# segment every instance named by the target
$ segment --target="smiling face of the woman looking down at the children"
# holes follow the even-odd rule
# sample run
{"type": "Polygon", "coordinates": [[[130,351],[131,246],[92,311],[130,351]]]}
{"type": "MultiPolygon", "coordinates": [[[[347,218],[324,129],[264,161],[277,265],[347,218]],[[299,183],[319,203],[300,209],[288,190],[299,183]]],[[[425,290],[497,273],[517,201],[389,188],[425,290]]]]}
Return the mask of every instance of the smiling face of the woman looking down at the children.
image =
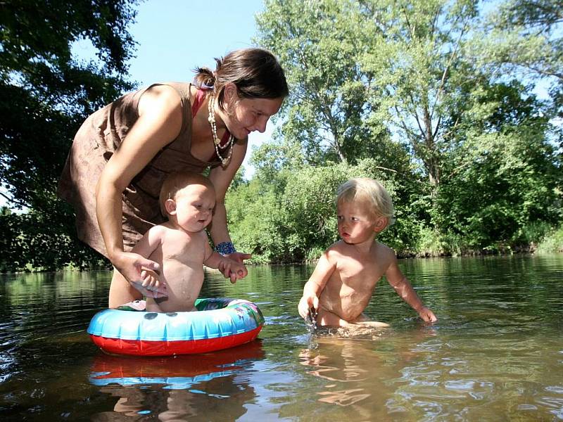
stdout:
{"type": "Polygon", "coordinates": [[[251,132],[264,132],[268,120],[284,101],[284,98],[236,98],[236,88],[231,98],[225,101],[224,123],[236,139],[246,139],[251,132]]]}

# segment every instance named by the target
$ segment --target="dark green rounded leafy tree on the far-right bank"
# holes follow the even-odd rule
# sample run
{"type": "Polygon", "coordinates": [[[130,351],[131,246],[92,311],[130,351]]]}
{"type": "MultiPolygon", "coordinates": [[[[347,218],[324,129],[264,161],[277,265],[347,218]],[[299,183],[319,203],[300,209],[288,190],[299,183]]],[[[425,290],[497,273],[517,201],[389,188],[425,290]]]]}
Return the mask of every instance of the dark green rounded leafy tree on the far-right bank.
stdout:
{"type": "Polygon", "coordinates": [[[548,121],[524,93],[519,84],[495,84],[466,105],[473,119],[449,154],[436,211],[443,231],[461,236],[469,250],[522,248],[538,240],[531,227],[562,217],[548,121]]]}

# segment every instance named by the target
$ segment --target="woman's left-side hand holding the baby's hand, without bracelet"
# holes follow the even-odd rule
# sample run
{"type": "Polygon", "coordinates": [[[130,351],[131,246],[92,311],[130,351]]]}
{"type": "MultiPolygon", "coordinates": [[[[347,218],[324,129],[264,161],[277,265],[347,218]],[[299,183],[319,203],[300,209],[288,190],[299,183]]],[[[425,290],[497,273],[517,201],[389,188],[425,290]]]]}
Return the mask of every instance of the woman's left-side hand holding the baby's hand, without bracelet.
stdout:
{"type": "Polygon", "coordinates": [[[166,284],[158,277],[160,265],[133,252],[120,252],[113,257],[116,269],[135,289],[147,298],[165,298],[168,295],[166,284]]]}

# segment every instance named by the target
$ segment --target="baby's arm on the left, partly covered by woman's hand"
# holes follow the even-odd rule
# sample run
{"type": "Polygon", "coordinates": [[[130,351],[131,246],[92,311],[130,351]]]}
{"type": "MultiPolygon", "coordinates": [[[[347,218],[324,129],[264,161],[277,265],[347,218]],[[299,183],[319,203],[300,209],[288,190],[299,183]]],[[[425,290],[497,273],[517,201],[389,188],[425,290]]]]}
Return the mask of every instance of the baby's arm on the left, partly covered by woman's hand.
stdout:
{"type": "MultiPolygon", "coordinates": [[[[141,240],[134,245],[132,252],[138,253],[148,259],[156,248],[161,245],[164,230],[162,226],[151,227],[141,240]]],[[[142,283],[134,282],[132,286],[143,293],[147,298],[158,299],[165,298],[168,295],[166,284],[160,283],[158,274],[152,269],[142,268],[141,279],[142,283]]]]}

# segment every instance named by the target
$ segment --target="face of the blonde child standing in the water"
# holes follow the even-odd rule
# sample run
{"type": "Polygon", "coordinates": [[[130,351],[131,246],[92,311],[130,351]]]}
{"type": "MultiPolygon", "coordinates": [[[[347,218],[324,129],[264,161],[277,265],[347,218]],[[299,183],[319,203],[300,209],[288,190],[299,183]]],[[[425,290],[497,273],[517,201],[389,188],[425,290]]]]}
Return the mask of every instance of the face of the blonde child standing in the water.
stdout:
{"type": "Polygon", "coordinates": [[[339,235],[350,244],[373,241],[381,231],[381,218],[375,217],[367,204],[361,202],[339,203],[336,207],[339,235]]]}

